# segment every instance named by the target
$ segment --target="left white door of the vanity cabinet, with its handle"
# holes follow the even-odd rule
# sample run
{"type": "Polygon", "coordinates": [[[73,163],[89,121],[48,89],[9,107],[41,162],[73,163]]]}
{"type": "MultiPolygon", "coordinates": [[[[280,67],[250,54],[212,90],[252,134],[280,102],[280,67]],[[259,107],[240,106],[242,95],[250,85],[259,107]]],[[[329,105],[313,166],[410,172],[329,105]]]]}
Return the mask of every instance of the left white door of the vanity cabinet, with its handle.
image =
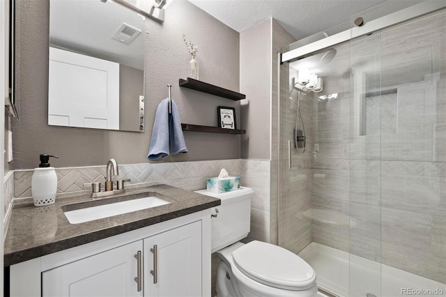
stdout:
{"type": "Polygon", "coordinates": [[[134,280],[142,248],[137,241],[45,271],[42,296],[143,296],[134,280]]]}

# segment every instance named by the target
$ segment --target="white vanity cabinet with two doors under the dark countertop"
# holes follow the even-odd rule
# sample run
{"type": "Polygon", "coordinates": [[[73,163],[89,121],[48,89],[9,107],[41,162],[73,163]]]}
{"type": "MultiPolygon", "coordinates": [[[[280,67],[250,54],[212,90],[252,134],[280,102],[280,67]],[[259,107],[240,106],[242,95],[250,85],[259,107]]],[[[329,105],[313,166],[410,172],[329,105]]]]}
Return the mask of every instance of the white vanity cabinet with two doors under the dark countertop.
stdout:
{"type": "Polygon", "coordinates": [[[210,210],[15,264],[10,288],[10,296],[210,296],[210,210]]]}

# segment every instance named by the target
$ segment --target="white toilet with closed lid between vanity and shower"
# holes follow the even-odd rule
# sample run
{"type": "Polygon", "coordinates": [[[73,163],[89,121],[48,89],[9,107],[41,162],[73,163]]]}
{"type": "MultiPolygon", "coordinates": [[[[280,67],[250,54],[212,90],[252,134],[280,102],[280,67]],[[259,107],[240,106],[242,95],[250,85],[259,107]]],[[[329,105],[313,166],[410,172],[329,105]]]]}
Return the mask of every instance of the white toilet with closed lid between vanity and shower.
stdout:
{"type": "Polygon", "coordinates": [[[222,200],[222,205],[213,208],[211,220],[212,252],[221,260],[217,297],[316,296],[316,273],[298,255],[261,241],[239,242],[249,233],[252,189],[196,192],[222,200]]]}

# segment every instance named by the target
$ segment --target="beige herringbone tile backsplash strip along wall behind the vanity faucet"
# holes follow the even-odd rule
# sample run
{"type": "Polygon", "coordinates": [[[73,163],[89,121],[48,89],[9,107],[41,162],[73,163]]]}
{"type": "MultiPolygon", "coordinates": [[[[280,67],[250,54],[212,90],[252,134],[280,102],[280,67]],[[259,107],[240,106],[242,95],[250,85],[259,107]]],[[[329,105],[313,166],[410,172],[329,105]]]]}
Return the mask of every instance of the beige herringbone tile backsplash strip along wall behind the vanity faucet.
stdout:
{"type": "MultiPolygon", "coordinates": [[[[229,174],[240,175],[240,159],[192,162],[150,163],[119,165],[119,176],[113,179],[130,178],[130,186],[164,183],[186,190],[206,188],[206,177],[218,176],[225,168],[229,174]]],[[[104,182],[105,166],[56,168],[57,193],[74,195],[89,192],[84,183],[104,182]]],[[[14,173],[14,197],[32,197],[31,178],[33,170],[18,170],[14,173]]],[[[242,180],[243,184],[243,180],[242,180]]]]}

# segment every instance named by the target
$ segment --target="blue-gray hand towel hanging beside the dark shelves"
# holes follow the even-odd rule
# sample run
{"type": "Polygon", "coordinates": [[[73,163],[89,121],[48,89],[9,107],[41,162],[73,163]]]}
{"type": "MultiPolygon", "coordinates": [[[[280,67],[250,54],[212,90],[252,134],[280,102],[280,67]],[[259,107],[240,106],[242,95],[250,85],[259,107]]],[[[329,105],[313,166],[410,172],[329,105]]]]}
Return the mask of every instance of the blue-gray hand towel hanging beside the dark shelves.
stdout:
{"type": "Polygon", "coordinates": [[[148,160],[167,157],[169,155],[169,139],[172,155],[187,153],[178,109],[176,109],[174,100],[171,100],[171,114],[169,114],[169,98],[167,98],[162,100],[156,109],[148,160]]]}

